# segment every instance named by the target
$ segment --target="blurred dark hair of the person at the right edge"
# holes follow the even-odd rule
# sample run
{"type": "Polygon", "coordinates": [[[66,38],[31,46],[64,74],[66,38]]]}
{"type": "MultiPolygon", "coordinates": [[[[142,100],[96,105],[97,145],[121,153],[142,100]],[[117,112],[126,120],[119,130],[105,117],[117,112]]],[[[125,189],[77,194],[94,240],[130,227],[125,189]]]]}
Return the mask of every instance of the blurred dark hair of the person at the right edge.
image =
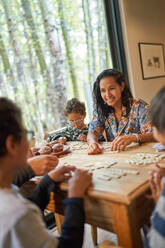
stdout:
{"type": "Polygon", "coordinates": [[[149,119],[160,133],[165,130],[165,87],[152,99],[149,109],[149,119]]]}

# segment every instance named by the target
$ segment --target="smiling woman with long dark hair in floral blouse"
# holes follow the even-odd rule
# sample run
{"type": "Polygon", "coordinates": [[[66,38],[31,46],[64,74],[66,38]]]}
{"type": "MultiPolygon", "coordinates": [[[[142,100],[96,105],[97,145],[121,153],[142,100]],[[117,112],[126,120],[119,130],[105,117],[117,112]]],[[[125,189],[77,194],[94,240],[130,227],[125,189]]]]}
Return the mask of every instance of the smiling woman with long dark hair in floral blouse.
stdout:
{"type": "Polygon", "coordinates": [[[132,142],[139,144],[153,140],[147,119],[148,104],[134,99],[123,73],[104,70],[93,87],[94,117],[89,126],[88,153],[101,153],[98,135],[113,141],[112,150],[124,150],[132,142]]]}

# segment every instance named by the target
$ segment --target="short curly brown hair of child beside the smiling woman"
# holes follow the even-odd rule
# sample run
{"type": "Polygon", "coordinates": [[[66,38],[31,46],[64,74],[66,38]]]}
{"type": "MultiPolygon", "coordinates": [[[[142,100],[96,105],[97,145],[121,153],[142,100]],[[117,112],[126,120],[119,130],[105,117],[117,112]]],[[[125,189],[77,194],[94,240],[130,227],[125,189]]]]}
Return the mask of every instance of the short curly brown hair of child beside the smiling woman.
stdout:
{"type": "Polygon", "coordinates": [[[72,98],[69,100],[66,104],[65,108],[65,115],[71,113],[79,113],[81,115],[85,115],[85,104],[83,102],[80,102],[77,98],[72,98]]]}

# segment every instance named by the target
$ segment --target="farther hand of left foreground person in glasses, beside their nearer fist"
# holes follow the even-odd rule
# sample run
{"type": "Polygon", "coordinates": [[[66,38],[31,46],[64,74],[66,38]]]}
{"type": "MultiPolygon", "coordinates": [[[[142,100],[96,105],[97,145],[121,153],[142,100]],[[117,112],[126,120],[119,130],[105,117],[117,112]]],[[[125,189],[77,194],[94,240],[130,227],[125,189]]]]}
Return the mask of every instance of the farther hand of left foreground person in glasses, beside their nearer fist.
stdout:
{"type": "Polygon", "coordinates": [[[62,166],[50,171],[48,175],[53,181],[58,183],[71,178],[71,172],[74,170],[74,166],[62,166]]]}

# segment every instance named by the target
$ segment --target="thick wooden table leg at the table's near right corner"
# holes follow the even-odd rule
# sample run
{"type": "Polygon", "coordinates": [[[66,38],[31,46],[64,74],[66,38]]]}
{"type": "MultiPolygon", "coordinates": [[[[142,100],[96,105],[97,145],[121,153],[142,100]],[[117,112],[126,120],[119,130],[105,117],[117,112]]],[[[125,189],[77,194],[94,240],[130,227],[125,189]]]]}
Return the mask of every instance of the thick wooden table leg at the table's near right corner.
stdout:
{"type": "Polygon", "coordinates": [[[113,205],[114,229],[118,243],[123,248],[141,248],[142,239],[136,223],[136,213],[131,208],[122,204],[113,205]]]}

